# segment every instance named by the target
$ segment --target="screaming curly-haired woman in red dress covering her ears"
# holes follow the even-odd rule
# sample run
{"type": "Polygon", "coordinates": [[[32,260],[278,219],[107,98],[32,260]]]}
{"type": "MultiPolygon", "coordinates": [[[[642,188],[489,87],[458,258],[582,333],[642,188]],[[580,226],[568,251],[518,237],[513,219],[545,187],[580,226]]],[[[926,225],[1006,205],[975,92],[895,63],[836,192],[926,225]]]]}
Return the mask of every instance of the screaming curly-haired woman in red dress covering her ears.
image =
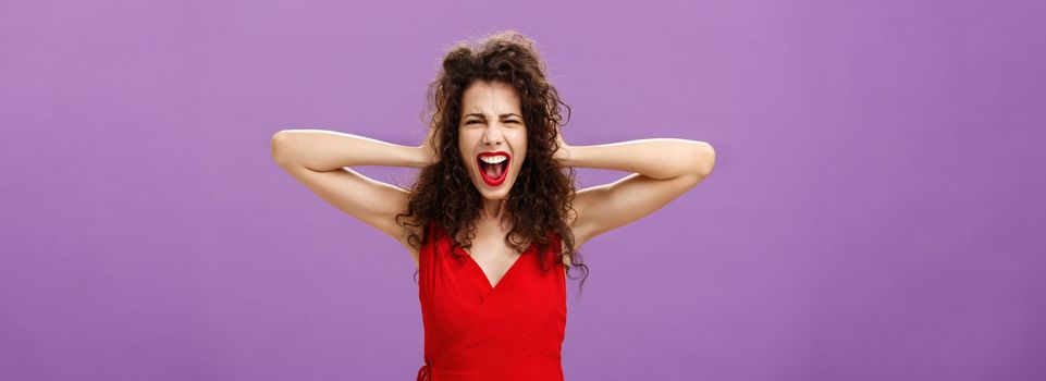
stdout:
{"type": "Polygon", "coordinates": [[[577,247],[694,187],[715,152],[675,138],[567,145],[566,103],[533,41],[513,30],[453,47],[428,100],[418,147],[286,130],[272,138],[273,158],[410,253],[424,325],[419,380],[563,380],[564,276],[588,273],[577,247]],[[354,165],[422,170],[408,190],[354,165]],[[575,192],[577,167],[633,173],[575,192]]]}

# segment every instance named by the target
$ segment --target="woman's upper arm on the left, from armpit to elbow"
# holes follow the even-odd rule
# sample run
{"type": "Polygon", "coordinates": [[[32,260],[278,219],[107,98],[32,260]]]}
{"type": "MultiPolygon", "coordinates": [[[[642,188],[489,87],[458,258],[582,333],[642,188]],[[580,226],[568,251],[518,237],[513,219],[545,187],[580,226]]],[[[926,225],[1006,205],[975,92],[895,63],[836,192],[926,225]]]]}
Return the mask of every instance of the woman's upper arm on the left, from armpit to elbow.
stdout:
{"type": "Polygon", "coordinates": [[[280,163],[280,167],[331,206],[399,242],[417,260],[416,249],[408,244],[406,232],[395,222],[396,214],[407,210],[408,190],[367,177],[349,168],[316,171],[295,163],[280,163]]]}

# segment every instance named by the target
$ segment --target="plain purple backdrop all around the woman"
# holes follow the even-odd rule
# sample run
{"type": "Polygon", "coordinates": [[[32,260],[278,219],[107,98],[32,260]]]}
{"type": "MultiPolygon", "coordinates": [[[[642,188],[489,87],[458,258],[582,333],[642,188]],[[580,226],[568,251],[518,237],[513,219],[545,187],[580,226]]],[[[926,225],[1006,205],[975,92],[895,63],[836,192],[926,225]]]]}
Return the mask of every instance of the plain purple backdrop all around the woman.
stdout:
{"type": "Polygon", "coordinates": [[[568,143],[717,150],[581,247],[568,380],[1046,379],[1042,1],[378,3],[3,2],[0,379],[413,379],[414,262],[269,138],[418,145],[503,28],[568,143]]]}

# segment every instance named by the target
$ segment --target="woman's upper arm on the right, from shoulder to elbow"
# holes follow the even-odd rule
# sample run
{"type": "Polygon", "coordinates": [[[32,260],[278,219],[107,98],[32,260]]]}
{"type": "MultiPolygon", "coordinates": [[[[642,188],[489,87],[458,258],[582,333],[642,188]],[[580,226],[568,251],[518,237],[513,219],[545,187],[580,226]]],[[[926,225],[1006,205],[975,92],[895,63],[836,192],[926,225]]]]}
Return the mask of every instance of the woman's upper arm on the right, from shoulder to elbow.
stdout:
{"type": "Polygon", "coordinates": [[[610,184],[579,190],[574,201],[576,246],[653,213],[697,186],[714,164],[714,151],[709,147],[698,161],[706,163],[705,168],[692,173],[665,180],[632,173],[610,184]]]}

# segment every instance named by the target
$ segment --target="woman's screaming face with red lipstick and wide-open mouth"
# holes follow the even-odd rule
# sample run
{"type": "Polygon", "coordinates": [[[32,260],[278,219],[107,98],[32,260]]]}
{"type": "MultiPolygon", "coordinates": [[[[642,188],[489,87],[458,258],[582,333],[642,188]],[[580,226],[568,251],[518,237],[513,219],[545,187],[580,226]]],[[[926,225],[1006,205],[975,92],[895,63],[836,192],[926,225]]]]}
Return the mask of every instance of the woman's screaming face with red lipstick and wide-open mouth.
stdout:
{"type": "Polygon", "coordinates": [[[465,89],[458,150],[484,198],[508,196],[527,157],[527,126],[512,86],[477,81],[465,89]]]}

